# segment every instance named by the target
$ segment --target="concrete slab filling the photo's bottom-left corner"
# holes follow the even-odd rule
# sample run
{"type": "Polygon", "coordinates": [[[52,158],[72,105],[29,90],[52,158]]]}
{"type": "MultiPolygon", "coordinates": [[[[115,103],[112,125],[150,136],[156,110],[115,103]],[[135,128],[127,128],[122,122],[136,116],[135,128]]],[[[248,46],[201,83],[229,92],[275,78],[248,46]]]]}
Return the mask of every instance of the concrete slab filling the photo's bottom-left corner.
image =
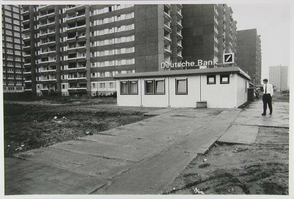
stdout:
{"type": "Polygon", "coordinates": [[[5,195],[90,194],[107,182],[100,178],[18,158],[5,158],[5,195]]]}

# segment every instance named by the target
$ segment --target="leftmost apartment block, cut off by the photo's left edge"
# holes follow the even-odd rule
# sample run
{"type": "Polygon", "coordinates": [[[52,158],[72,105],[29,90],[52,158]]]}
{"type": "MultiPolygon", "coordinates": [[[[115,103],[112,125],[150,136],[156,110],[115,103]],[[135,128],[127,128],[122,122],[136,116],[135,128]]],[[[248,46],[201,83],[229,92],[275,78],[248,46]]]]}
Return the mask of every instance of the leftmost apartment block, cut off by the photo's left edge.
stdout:
{"type": "Polygon", "coordinates": [[[2,5],[3,92],[24,91],[21,6],[2,5]]]}

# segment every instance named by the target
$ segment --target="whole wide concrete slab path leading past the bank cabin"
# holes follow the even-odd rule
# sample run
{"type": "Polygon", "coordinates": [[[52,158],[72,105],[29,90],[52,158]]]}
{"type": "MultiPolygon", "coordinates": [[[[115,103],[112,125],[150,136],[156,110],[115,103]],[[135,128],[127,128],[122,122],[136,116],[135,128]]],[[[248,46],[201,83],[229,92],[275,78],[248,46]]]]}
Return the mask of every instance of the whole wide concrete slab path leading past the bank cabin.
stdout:
{"type": "Polygon", "coordinates": [[[266,116],[258,101],[243,110],[166,108],[140,122],[16,154],[5,158],[5,194],[160,194],[219,138],[249,144],[258,125],[288,127],[289,103],[273,107],[266,116]]]}

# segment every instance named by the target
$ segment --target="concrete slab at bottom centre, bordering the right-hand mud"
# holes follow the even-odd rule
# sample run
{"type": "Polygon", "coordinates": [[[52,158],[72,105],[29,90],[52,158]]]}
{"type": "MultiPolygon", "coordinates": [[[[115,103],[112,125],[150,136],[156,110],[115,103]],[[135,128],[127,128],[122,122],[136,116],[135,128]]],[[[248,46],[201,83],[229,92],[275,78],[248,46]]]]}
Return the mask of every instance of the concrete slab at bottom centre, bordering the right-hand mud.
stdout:
{"type": "MultiPolygon", "coordinates": [[[[195,157],[195,153],[165,150],[114,178],[104,193],[160,194],[195,157]]],[[[101,190],[94,194],[97,192],[101,193],[101,190]]]]}

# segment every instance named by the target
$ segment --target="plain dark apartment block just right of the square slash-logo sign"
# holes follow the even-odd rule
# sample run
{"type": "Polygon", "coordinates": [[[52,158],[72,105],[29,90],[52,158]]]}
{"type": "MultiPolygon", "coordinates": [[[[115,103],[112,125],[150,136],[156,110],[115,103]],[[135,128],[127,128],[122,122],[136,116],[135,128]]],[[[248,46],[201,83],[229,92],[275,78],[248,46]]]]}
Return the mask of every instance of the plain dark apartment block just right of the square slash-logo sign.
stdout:
{"type": "Polygon", "coordinates": [[[237,31],[237,66],[251,78],[251,83],[261,83],[261,40],[257,30],[237,31]]]}

